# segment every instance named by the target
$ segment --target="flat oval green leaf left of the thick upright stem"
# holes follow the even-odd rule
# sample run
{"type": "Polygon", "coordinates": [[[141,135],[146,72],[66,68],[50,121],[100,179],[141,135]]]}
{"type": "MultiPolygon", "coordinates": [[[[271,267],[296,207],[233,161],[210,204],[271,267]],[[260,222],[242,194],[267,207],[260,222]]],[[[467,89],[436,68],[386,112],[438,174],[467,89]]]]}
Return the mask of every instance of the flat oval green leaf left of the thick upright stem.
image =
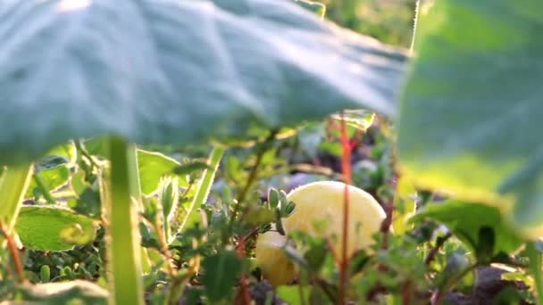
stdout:
{"type": "Polygon", "coordinates": [[[71,250],[96,235],[92,218],[60,207],[22,207],[15,230],[25,247],[41,251],[71,250]]]}

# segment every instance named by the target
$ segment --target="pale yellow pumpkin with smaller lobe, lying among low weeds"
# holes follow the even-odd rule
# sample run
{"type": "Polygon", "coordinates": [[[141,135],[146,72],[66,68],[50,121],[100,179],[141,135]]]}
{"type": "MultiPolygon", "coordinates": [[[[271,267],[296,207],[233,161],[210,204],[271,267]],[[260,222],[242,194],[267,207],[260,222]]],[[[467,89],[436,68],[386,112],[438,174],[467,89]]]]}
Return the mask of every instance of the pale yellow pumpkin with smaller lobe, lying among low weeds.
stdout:
{"type": "MultiPolygon", "coordinates": [[[[357,250],[369,250],[372,235],[380,230],[386,217],[371,194],[353,185],[348,185],[349,220],[347,255],[357,250]]],[[[338,255],[343,248],[343,206],[345,184],[337,181],[319,181],[302,185],[287,194],[288,201],[296,203],[296,210],[282,219],[285,233],[296,230],[316,237],[327,237],[338,255]]],[[[255,260],[263,277],[273,285],[288,284],[296,276],[296,268],[283,254],[281,248],[286,237],[270,231],[259,235],[256,241],[255,260]]]]}

